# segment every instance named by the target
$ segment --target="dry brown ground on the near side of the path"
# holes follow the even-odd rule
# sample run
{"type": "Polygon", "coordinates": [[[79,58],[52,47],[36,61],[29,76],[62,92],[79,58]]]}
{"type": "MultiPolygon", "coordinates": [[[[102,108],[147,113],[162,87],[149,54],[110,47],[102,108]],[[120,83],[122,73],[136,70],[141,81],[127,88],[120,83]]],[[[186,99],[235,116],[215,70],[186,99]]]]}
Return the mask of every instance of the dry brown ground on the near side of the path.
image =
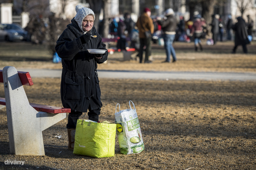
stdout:
{"type": "MultiPolygon", "coordinates": [[[[239,81],[100,79],[100,121],[114,122],[117,103],[136,106],[145,150],[91,158],[66,149],[67,119],[43,132],[46,156],[9,154],[7,120],[0,110],[0,166],[4,160],[24,160],[28,169],[255,169],[256,84],[239,81]],[[61,139],[54,138],[62,135],[61,139]],[[49,168],[50,167],[50,168],[49,168]]],[[[34,78],[24,86],[30,102],[61,106],[59,78],[34,78]]],[[[3,96],[0,88],[0,96],[3,96]]],[[[84,113],[81,119],[87,119],[84,113]]],[[[14,166],[14,168],[20,168],[14,166]]]]}

